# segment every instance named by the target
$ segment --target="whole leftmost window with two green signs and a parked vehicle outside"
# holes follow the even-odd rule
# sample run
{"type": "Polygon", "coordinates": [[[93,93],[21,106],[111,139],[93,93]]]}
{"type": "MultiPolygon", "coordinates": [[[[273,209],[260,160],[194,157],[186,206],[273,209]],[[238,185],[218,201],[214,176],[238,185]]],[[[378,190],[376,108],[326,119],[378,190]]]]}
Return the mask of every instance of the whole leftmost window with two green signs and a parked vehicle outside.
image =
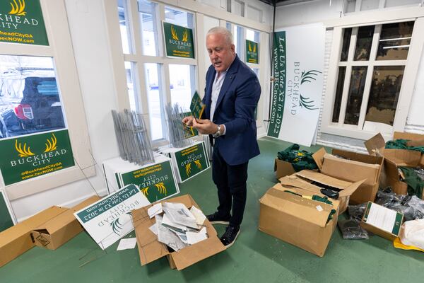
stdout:
{"type": "Polygon", "coordinates": [[[28,28],[35,42],[1,42],[0,54],[0,186],[11,200],[95,175],[64,2],[26,1],[21,8],[38,24],[33,30],[13,16],[13,28],[28,28]]]}

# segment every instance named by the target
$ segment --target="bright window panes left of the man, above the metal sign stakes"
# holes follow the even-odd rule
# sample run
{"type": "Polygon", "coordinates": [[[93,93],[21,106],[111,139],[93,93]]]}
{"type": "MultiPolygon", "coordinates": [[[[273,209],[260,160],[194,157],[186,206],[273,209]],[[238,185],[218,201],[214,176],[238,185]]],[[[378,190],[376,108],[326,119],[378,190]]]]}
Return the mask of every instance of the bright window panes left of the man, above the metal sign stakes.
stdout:
{"type": "Polygon", "coordinates": [[[196,59],[163,57],[162,22],[194,28],[194,13],[148,0],[117,0],[117,14],[129,106],[148,113],[144,117],[153,145],[160,145],[165,142],[167,130],[165,105],[178,103],[189,110],[197,84],[196,59]]]}

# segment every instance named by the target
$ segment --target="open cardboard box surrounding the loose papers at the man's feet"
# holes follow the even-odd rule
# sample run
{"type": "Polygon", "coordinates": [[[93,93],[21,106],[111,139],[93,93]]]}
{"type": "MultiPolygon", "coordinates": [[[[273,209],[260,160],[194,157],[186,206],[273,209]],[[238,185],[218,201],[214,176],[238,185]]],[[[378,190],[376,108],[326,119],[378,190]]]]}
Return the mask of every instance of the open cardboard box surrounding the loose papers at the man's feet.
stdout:
{"type": "MultiPolygon", "coordinates": [[[[179,202],[185,204],[187,208],[194,206],[200,209],[190,195],[172,197],[162,202],[179,202]]],[[[147,210],[151,206],[148,205],[132,212],[141,265],[146,265],[166,256],[172,269],[183,270],[190,265],[194,265],[196,262],[225,250],[225,246],[218,238],[216,230],[213,229],[212,224],[206,219],[204,223],[208,233],[206,240],[183,248],[178,252],[170,252],[167,246],[160,243],[158,237],[148,229],[155,224],[155,219],[150,219],[147,213],[147,210]]]]}

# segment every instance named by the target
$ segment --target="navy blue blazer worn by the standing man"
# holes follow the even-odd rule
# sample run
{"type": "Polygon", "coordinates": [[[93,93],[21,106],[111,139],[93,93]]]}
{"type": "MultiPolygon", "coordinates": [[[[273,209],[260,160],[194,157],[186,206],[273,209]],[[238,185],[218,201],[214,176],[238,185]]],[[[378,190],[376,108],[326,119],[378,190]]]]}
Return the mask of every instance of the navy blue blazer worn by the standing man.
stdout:
{"type": "Polygon", "coordinates": [[[211,65],[206,73],[206,88],[203,98],[206,108],[203,117],[216,125],[225,125],[225,135],[215,139],[215,146],[218,146],[226,163],[231,166],[242,164],[260,153],[254,110],[257,108],[261,96],[261,85],[254,71],[240,61],[236,55],[225,74],[211,119],[209,116],[215,76],[215,68],[211,65]]]}

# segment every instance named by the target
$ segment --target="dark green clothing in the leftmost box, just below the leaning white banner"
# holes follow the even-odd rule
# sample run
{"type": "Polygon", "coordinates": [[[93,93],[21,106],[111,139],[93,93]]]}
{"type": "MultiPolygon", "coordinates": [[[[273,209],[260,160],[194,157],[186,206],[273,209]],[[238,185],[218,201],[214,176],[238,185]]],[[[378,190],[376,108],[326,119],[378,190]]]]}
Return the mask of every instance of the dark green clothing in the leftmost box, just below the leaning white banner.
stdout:
{"type": "Polygon", "coordinates": [[[304,169],[317,169],[318,166],[314,158],[312,158],[312,153],[299,149],[299,144],[292,144],[287,149],[278,152],[278,159],[292,163],[293,169],[295,169],[296,172],[304,169]]]}

